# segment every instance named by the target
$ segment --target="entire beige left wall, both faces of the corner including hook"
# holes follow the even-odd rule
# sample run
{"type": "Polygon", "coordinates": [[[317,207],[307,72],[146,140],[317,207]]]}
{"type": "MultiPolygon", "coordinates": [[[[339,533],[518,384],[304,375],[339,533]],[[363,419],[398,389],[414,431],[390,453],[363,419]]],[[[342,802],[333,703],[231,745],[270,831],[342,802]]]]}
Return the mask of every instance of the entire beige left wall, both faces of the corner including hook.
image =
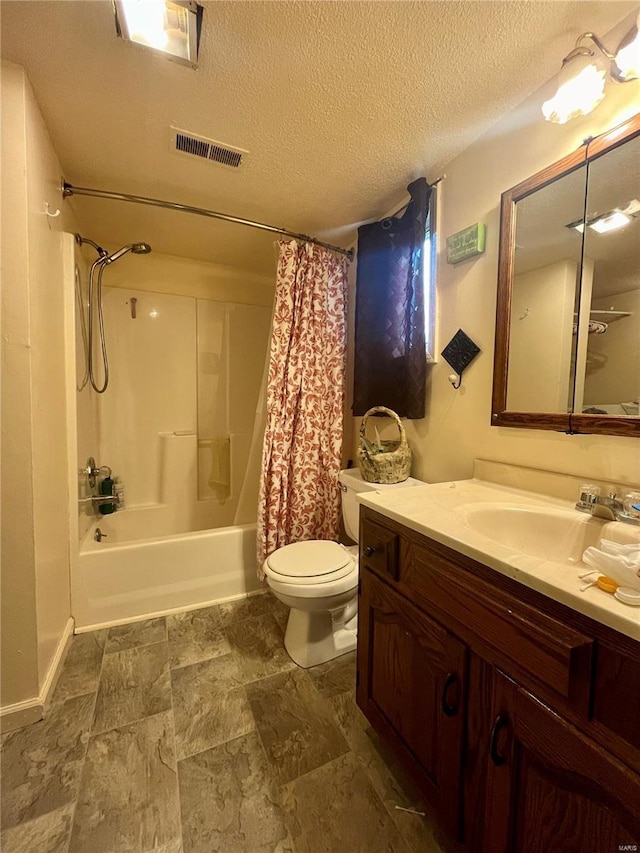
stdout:
{"type": "Polygon", "coordinates": [[[42,700],[70,628],[60,165],[2,66],[2,707],[42,700]]]}

